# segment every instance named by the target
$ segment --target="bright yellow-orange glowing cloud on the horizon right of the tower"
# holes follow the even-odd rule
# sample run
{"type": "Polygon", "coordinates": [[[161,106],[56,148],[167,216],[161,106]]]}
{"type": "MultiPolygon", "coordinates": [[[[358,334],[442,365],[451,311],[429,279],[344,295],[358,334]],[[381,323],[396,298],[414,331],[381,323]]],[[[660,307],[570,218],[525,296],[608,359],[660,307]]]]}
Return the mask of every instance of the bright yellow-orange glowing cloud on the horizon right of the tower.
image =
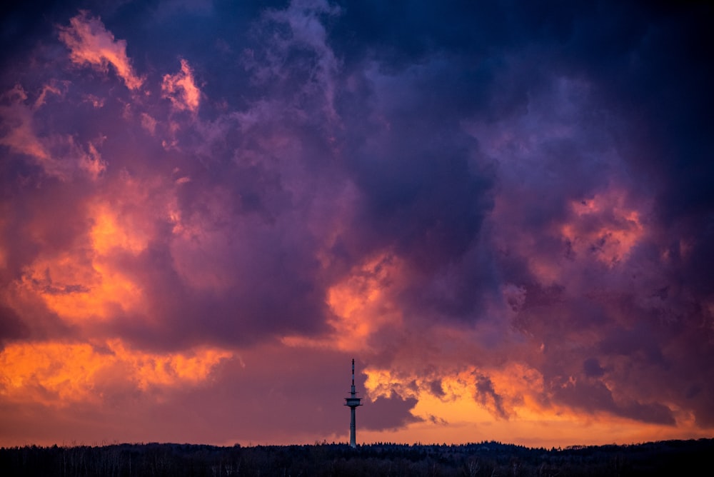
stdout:
{"type": "MultiPolygon", "coordinates": [[[[363,441],[478,442],[496,440],[529,446],[632,443],[653,439],[705,437],[688,413],[678,414],[678,425],[642,423],[608,413],[581,411],[545,404],[543,376],[524,363],[501,368],[475,368],[438,373],[405,373],[393,369],[366,368],[366,395],[375,400],[396,392],[416,398],[413,416],[421,418],[393,431],[360,431],[363,441]],[[478,396],[478,377],[487,376],[501,405],[478,396]],[[441,393],[434,392],[438,383],[441,393]]],[[[369,403],[366,403],[365,411],[369,403]]]]}

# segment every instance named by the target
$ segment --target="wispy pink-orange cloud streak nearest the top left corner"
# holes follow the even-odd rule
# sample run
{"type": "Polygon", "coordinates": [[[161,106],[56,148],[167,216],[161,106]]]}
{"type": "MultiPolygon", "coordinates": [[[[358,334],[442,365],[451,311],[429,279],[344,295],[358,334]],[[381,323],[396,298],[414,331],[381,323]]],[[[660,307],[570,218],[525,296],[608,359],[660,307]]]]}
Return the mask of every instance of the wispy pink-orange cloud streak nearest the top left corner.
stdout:
{"type": "Polygon", "coordinates": [[[126,41],[115,40],[99,18],[86,11],[70,19],[69,26],[59,27],[59,39],[70,49],[70,59],[76,64],[90,64],[106,72],[109,65],[129,89],[139,89],[143,80],[136,76],[126,56],[126,41]]]}

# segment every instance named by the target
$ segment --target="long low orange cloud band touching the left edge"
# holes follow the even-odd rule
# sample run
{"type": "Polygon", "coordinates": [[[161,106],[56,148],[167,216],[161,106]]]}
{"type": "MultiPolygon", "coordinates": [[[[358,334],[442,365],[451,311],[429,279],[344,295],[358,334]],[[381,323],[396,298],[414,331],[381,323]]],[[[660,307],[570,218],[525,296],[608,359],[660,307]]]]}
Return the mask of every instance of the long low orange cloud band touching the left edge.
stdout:
{"type": "Polygon", "coordinates": [[[112,388],[193,386],[205,381],[232,353],[196,348],[183,353],[145,353],[119,339],[88,343],[12,343],[0,352],[0,396],[6,401],[64,406],[100,402],[112,388]]]}

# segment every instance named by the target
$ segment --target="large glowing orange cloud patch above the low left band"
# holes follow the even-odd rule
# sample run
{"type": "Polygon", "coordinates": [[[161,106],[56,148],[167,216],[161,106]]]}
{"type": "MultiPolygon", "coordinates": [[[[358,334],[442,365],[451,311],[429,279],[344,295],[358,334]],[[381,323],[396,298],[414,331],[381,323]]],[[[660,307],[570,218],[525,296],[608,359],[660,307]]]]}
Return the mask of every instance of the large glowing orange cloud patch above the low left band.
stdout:
{"type": "MultiPolygon", "coordinates": [[[[121,181],[121,196],[95,199],[79,209],[86,224],[84,234],[62,251],[49,248],[24,267],[10,295],[14,308],[39,301],[68,323],[110,319],[117,313],[146,311],[144,284],[117,266],[121,256],[139,256],[156,234],[156,224],[171,221],[171,191],[161,194],[169,181],[121,181]],[[144,209],[139,204],[151,204],[144,209]],[[149,213],[147,213],[147,210],[149,213]]],[[[111,193],[110,193],[111,194],[111,193]]],[[[41,224],[29,229],[32,239],[46,242],[41,224]]]]}

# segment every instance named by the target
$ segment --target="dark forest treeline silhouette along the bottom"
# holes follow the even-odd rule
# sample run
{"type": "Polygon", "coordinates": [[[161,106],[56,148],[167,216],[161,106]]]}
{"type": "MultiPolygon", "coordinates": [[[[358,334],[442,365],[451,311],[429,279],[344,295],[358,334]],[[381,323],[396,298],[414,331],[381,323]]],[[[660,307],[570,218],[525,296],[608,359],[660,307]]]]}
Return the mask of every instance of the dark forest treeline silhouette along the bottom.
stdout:
{"type": "Polygon", "coordinates": [[[2,476],[653,476],[711,468],[714,439],[528,448],[342,443],[218,447],[135,443],[0,448],[2,476]]]}

